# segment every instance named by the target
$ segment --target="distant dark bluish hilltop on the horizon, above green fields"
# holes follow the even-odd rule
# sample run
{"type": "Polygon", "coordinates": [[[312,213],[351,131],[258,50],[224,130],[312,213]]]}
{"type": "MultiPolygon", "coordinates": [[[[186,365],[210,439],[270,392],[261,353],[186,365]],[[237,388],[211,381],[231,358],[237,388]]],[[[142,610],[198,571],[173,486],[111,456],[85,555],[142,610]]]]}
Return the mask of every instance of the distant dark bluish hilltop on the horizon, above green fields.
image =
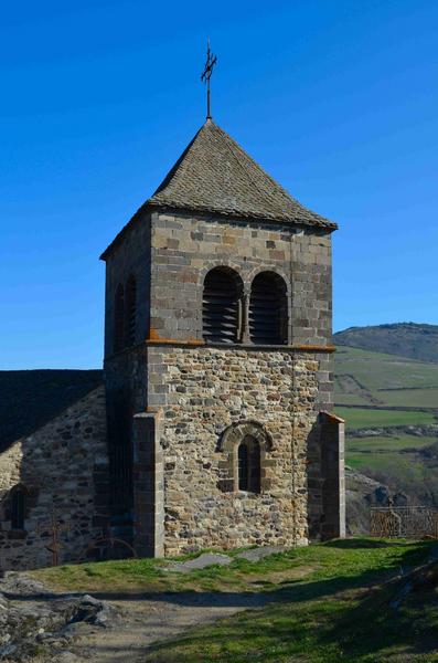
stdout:
{"type": "Polygon", "coordinates": [[[349,327],[333,335],[336,345],[438,364],[438,325],[396,323],[349,327]]]}

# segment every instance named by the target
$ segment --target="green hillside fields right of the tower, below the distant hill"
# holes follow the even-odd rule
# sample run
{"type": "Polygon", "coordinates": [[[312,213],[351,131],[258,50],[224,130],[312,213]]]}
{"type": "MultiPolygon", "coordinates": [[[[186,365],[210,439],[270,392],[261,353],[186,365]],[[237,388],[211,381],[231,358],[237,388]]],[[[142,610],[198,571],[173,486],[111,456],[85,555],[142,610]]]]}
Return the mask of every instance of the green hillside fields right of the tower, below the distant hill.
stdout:
{"type": "Polygon", "coordinates": [[[438,460],[420,453],[438,442],[427,428],[438,423],[438,365],[339,346],[334,385],[346,463],[394,491],[438,501],[438,460]]]}

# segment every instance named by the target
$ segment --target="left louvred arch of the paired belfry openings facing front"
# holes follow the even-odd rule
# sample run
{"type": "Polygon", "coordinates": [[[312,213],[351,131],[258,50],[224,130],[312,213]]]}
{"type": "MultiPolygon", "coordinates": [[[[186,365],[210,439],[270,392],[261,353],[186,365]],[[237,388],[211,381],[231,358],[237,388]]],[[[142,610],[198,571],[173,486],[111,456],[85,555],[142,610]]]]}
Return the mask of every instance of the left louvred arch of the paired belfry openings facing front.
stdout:
{"type": "Polygon", "coordinates": [[[242,340],[243,283],[229,267],[205,276],[202,301],[203,337],[209,343],[242,340]]]}

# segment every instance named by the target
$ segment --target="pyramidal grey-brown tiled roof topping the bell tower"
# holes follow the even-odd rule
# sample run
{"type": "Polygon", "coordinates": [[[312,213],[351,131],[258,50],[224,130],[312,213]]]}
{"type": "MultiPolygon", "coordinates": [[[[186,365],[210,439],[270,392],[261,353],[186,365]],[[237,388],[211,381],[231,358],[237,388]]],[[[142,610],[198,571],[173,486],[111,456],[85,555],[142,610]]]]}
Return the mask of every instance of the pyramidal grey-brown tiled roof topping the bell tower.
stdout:
{"type": "Polygon", "coordinates": [[[146,204],[336,228],[289,196],[212,120],[201,127],[146,204]]]}

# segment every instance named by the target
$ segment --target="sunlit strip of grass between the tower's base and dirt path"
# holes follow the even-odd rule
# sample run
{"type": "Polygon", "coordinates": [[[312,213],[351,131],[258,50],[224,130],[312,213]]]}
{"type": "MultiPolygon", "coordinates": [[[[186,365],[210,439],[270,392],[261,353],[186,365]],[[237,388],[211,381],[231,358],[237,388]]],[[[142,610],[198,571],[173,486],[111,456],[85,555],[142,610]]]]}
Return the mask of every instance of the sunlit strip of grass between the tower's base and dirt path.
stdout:
{"type": "MultiPolygon", "coordinates": [[[[423,554],[423,544],[378,544],[373,539],[351,539],[339,541],[336,546],[324,544],[299,547],[259,561],[236,559],[229,566],[209,566],[190,573],[168,572],[167,561],[162,559],[127,559],[66,565],[32,571],[32,576],[60,589],[77,591],[119,591],[181,592],[194,591],[256,591],[258,581],[267,590],[278,589],[276,578],[290,575],[291,582],[300,578],[299,570],[306,567],[306,573],[314,579],[339,575],[341,559],[342,572],[355,573],[374,568],[391,568],[406,551],[423,554]]],[[[282,578],[285,579],[286,576],[282,578]]],[[[285,583],[281,582],[284,586],[285,583]]]]}

